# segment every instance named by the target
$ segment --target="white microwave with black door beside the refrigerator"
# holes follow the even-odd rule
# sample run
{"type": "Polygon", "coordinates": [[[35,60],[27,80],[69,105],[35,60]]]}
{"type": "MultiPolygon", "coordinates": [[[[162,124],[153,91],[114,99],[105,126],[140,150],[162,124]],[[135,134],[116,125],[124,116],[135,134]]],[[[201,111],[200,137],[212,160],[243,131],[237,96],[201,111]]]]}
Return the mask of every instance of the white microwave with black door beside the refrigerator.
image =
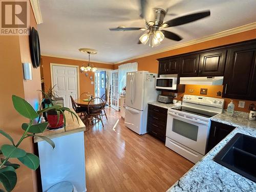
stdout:
{"type": "Polygon", "coordinates": [[[176,90],[177,77],[158,77],[156,79],[156,89],[176,90]]]}

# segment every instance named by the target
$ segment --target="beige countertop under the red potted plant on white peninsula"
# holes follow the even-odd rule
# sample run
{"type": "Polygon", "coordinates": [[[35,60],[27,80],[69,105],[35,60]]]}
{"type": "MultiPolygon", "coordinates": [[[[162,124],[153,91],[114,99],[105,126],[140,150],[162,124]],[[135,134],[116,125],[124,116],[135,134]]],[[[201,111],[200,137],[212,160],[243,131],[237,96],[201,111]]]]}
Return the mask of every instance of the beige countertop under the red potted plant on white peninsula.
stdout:
{"type": "MultiPolygon", "coordinates": [[[[71,108],[71,110],[75,113],[75,111],[72,108],[71,108]]],[[[57,131],[46,130],[46,131],[44,131],[40,134],[36,134],[36,135],[46,136],[46,137],[52,139],[52,138],[61,137],[64,135],[69,135],[69,134],[73,134],[73,133],[86,131],[86,125],[83,124],[82,120],[79,117],[78,117],[78,122],[75,117],[74,117],[74,121],[73,121],[72,116],[71,116],[71,114],[69,114],[69,112],[65,111],[64,113],[66,115],[66,131],[65,131],[65,129],[57,130],[57,131]]],[[[44,141],[44,140],[41,139],[40,137],[35,136],[34,143],[37,143],[39,141],[44,141]]]]}

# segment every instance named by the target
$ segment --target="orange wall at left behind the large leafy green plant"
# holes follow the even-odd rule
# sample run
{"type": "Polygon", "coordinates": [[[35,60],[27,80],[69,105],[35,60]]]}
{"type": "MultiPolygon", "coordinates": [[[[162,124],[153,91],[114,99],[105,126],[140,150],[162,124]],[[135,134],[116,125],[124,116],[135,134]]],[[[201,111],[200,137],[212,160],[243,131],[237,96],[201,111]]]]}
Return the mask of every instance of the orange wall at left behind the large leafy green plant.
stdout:
{"type": "MultiPolygon", "coordinates": [[[[32,8],[30,7],[30,24],[36,26],[32,8]]],[[[14,142],[22,136],[24,131],[20,128],[28,119],[20,116],[12,104],[12,94],[28,100],[35,108],[40,94],[36,92],[40,88],[40,70],[33,69],[33,80],[23,80],[22,62],[31,62],[28,36],[0,36],[0,127],[9,133],[14,142]],[[39,74],[39,76],[38,76],[39,74]]],[[[10,143],[5,137],[0,136],[0,145],[10,143]]],[[[27,138],[20,145],[27,152],[33,153],[31,138],[27,138]]],[[[11,162],[19,163],[15,159],[11,162]]],[[[21,164],[17,169],[17,184],[13,191],[37,191],[35,172],[21,164]]],[[[0,184],[0,188],[3,188],[0,184]]]]}

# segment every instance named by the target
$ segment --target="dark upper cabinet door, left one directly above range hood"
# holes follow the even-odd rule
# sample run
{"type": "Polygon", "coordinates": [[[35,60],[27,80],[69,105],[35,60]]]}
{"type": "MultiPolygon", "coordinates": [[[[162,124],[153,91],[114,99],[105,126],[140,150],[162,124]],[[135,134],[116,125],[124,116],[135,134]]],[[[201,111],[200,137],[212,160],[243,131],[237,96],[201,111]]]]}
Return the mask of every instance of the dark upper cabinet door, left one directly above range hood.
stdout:
{"type": "Polygon", "coordinates": [[[199,55],[188,55],[180,57],[180,76],[193,77],[198,74],[199,55]]]}

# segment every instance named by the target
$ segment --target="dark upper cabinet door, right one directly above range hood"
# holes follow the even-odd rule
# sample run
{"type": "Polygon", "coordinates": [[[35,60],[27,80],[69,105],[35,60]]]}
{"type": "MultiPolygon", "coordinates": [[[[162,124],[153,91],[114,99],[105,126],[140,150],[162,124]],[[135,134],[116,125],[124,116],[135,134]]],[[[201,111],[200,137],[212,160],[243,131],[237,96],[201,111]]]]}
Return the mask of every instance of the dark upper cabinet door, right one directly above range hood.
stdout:
{"type": "Polygon", "coordinates": [[[226,50],[200,54],[199,76],[223,76],[226,50]]]}

